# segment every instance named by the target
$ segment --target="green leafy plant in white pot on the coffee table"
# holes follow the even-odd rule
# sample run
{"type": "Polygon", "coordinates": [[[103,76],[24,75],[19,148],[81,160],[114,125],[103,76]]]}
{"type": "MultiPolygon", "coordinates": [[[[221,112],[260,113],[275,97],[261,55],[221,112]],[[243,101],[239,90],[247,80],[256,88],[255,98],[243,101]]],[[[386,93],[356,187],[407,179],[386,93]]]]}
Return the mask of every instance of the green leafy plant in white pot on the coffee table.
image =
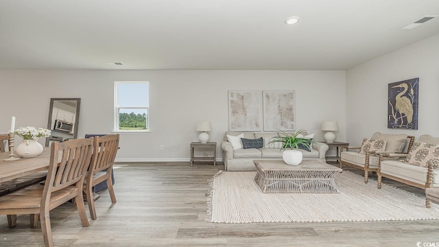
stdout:
{"type": "Polygon", "coordinates": [[[298,130],[293,135],[281,130],[278,137],[273,137],[270,143],[282,143],[281,150],[283,150],[282,158],[288,165],[298,165],[302,162],[302,152],[294,149],[307,148],[311,150],[313,139],[303,138],[301,134],[305,130],[298,130]]]}

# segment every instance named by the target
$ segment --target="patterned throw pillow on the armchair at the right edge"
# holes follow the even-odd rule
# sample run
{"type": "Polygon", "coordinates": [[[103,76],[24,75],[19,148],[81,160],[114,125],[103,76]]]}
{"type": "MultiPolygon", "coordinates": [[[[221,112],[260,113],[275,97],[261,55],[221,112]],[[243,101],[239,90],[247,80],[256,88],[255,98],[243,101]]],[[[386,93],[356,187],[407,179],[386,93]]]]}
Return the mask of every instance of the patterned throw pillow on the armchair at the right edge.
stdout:
{"type": "Polygon", "coordinates": [[[428,167],[431,164],[439,168],[439,145],[414,141],[412,150],[403,162],[420,167],[428,167]]]}

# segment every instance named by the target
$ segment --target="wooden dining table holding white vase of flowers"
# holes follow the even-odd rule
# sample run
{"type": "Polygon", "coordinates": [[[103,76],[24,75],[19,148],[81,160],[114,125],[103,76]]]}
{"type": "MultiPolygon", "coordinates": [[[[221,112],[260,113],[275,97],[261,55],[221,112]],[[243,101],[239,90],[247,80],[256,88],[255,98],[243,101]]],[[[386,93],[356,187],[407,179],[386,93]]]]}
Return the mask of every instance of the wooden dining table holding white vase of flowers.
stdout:
{"type": "MultiPolygon", "coordinates": [[[[21,178],[49,169],[50,148],[43,148],[43,152],[33,158],[20,158],[16,161],[3,161],[10,152],[0,152],[0,185],[8,180],[21,178]]],[[[19,155],[16,155],[19,157],[19,155]]]]}

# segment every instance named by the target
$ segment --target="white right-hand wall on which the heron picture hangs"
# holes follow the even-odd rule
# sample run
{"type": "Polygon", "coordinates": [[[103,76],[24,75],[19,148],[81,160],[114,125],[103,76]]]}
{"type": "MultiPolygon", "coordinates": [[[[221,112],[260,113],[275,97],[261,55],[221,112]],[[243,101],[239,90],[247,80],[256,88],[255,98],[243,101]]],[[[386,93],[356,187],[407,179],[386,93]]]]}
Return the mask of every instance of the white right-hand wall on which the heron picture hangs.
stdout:
{"type": "Polygon", "coordinates": [[[374,132],[439,137],[439,34],[346,71],[347,141],[374,132]],[[388,84],[419,78],[418,130],[387,128],[388,84]]]}

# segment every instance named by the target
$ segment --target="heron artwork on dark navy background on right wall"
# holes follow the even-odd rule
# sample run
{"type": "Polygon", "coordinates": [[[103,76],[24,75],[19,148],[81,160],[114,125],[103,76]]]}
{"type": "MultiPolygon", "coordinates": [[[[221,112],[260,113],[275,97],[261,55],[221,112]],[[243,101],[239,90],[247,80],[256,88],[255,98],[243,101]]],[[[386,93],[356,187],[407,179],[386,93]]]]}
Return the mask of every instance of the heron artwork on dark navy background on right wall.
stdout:
{"type": "Polygon", "coordinates": [[[419,78],[389,84],[388,128],[418,129],[419,78]]]}

